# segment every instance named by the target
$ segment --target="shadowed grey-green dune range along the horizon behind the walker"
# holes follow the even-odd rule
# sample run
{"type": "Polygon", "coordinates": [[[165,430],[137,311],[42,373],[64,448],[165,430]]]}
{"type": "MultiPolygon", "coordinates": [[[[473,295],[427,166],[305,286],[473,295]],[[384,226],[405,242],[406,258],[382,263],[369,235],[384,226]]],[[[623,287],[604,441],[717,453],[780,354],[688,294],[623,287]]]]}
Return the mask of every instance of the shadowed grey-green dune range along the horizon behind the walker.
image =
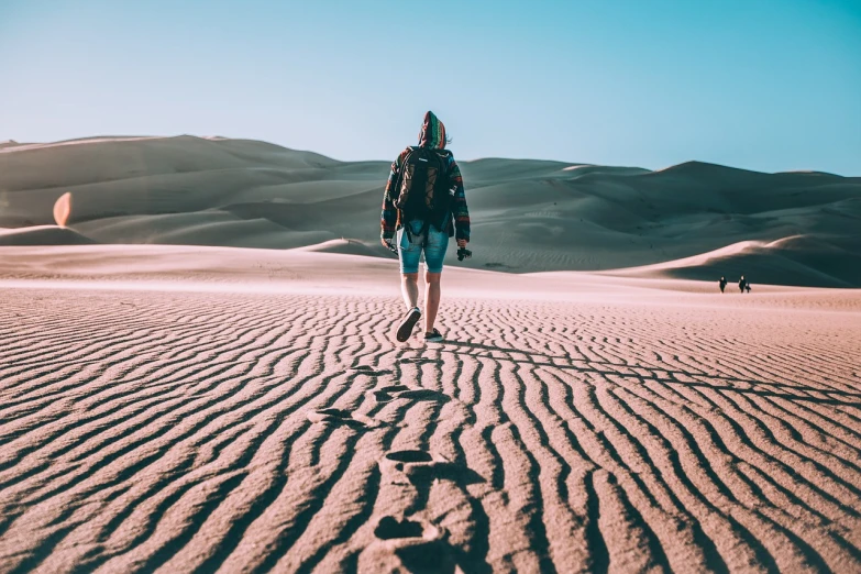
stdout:
{"type": "MultiPolygon", "coordinates": [[[[861,286],[851,271],[861,252],[858,177],[699,162],[656,172],[532,159],[461,164],[475,239],[464,265],[473,268],[642,267],[802,235],[814,241],[663,269],[696,279],[744,273],[754,283],[861,286]]],[[[69,192],[68,224],[101,243],[291,249],[344,238],[384,257],[377,222],[388,167],[188,135],[11,145],[0,148],[0,225],[51,224],[54,202],[69,192]]]]}

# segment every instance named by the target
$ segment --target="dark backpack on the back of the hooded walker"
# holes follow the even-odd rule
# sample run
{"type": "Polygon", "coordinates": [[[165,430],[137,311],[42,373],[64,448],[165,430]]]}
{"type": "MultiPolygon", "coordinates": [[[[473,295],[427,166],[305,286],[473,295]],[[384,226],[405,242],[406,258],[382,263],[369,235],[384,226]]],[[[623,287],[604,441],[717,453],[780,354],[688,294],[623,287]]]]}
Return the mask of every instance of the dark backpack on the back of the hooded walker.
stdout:
{"type": "Polygon", "coordinates": [[[438,150],[409,147],[398,179],[398,196],[393,198],[398,224],[408,227],[408,222],[421,220],[422,234],[430,223],[440,225],[450,209],[448,188],[445,156],[438,150]]]}

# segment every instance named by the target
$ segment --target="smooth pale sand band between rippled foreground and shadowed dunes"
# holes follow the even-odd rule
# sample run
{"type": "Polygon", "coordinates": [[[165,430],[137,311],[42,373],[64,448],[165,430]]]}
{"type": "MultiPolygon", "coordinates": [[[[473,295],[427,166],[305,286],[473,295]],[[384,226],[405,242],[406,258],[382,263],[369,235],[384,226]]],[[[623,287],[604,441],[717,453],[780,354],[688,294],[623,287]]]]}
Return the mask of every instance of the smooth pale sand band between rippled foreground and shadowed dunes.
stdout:
{"type": "MultiPolygon", "coordinates": [[[[25,285],[56,287],[62,282],[64,287],[75,289],[167,288],[271,294],[311,290],[373,296],[379,295],[380,289],[391,290],[393,282],[397,287],[397,260],[363,256],[362,251],[361,245],[342,240],[286,251],[189,245],[0,246],[0,285],[18,287],[20,282],[25,282],[25,285]]],[[[576,296],[596,301],[628,301],[648,295],[667,301],[687,298],[691,305],[722,306],[733,301],[702,297],[717,294],[714,282],[643,278],[636,274],[633,277],[588,272],[508,274],[450,266],[445,269],[444,285],[448,297],[467,299],[540,297],[567,301],[576,296]]],[[[795,308],[813,294],[810,301],[816,301],[816,309],[857,310],[851,289],[823,291],[760,284],[746,305],[795,308]]]]}

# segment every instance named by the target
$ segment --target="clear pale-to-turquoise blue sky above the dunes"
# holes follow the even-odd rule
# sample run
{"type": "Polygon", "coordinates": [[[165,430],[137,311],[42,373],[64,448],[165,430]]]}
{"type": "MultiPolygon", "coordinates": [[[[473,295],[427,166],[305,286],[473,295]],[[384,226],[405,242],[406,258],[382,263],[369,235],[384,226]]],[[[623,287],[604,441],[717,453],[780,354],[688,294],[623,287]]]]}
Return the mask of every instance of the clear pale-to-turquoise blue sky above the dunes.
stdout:
{"type": "Polygon", "coordinates": [[[861,175],[861,0],[0,0],[0,140],[861,175]]]}

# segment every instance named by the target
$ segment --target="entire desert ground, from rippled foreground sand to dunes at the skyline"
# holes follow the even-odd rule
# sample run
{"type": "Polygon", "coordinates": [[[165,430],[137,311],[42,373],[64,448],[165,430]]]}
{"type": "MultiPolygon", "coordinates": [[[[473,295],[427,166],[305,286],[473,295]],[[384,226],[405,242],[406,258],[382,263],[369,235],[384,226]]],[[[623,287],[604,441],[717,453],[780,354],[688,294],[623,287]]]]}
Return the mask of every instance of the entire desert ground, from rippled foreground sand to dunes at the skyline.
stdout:
{"type": "Polygon", "coordinates": [[[0,143],[0,572],[861,572],[861,178],[461,162],[400,344],[388,165],[0,143]]]}

